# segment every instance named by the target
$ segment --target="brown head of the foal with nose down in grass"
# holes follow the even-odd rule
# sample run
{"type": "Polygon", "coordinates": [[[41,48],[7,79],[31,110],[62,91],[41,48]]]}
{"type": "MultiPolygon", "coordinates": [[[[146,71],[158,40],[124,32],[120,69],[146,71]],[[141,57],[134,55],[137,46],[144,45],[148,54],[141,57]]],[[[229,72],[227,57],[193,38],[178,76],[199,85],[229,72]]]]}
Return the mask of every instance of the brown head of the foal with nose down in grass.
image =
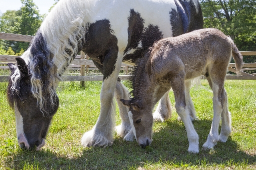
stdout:
{"type": "Polygon", "coordinates": [[[142,148],[150,145],[153,125],[151,108],[143,106],[139,99],[121,99],[120,101],[129,108],[128,116],[138,145],[142,148]]]}

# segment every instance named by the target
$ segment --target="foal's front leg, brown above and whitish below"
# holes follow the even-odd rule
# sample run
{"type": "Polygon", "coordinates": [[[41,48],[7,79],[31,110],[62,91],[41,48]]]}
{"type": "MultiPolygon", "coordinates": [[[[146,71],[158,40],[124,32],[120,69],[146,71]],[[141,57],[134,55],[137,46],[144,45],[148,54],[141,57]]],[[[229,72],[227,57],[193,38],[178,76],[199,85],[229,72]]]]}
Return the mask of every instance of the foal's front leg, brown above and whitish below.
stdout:
{"type": "Polygon", "coordinates": [[[198,135],[194,130],[192,121],[190,120],[189,116],[189,109],[186,107],[185,102],[185,87],[184,87],[184,76],[180,74],[172,78],[171,80],[171,87],[175,97],[175,108],[178,116],[180,116],[182,122],[184,123],[187,139],[189,143],[188,152],[190,153],[199,153],[199,142],[198,142],[198,135]]]}

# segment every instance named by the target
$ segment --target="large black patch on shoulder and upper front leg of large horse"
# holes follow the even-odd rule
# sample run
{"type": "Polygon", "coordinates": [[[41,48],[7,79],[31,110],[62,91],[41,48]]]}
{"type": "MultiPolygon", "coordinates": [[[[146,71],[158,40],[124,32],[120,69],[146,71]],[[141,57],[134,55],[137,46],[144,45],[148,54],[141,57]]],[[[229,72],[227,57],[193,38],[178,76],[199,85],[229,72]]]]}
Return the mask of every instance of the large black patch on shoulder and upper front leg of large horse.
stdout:
{"type": "Polygon", "coordinates": [[[115,69],[118,46],[113,35],[110,22],[107,19],[97,20],[89,25],[85,32],[81,49],[103,74],[103,80],[108,78],[115,69]]]}

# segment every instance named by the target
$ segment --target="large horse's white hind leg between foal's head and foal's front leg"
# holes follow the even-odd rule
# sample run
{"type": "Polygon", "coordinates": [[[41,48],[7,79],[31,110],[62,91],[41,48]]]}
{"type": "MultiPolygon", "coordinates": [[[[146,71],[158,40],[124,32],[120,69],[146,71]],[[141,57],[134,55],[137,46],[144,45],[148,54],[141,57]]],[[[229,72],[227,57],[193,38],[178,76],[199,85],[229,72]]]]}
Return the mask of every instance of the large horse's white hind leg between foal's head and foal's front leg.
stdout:
{"type": "Polygon", "coordinates": [[[153,120],[163,122],[171,117],[171,103],[169,99],[169,90],[161,97],[153,113],[153,120]]]}

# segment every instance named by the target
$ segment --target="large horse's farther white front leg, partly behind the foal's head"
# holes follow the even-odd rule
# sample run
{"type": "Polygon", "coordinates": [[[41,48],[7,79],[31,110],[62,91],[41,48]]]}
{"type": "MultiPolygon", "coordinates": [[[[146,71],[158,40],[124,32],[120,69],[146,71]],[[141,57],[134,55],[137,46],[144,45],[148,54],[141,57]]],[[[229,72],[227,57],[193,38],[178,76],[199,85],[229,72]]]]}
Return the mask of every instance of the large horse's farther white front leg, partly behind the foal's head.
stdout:
{"type": "MultiPolygon", "coordinates": [[[[130,121],[128,117],[128,108],[125,107],[120,99],[129,99],[128,90],[127,88],[120,82],[117,81],[115,85],[114,97],[116,99],[117,105],[119,107],[119,115],[121,118],[121,124],[115,127],[117,135],[120,137],[124,137],[128,132],[131,130],[130,121]]],[[[125,140],[133,141],[135,139],[133,133],[130,134],[131,137],[128,137],[125,140]]]]}

